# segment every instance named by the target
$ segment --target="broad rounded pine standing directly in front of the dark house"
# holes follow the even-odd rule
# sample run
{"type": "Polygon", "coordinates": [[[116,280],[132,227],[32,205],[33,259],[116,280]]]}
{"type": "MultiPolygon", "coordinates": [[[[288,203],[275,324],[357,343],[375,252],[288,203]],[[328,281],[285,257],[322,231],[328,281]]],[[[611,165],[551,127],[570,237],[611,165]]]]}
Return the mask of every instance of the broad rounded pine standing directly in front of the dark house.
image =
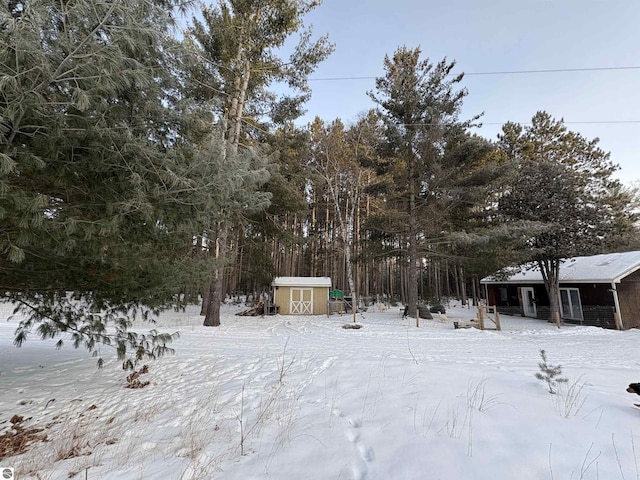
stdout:
{"type": "Polygon", "coordinates": [[[531,225],[517,254],[540,270],[551,320],[559,321],[560,265],[571,257],[624,248],[636,218],[627,208],[631,196],[612,177],[618,166],[598,147],[598,139],[568,131],[546,112],[538,112],[524,128],[506,124],[499,145],[515,170],[497,213],[505,223],[531,225]]]}

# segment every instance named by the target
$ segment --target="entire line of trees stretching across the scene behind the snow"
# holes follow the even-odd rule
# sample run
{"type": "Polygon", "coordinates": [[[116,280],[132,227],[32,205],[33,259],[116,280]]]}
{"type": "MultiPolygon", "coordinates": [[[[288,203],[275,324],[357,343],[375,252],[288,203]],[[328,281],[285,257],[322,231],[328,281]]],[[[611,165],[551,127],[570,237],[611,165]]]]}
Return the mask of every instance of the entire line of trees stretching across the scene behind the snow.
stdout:
{"type": "Polygon", "coordinates": [[[543,111],[472,135],[463,75],[420,48],[381,59],[360,118],[296,125],[333,50],[304,24],[320,3],[2,2],[0,286],[17,345],[64,333],[135,360],[172,340],[131,332],[136,315],[202,301],[219,325],[227,295],[275,276],[329,276],[415,315],[509,264],[536,262],[552,291],[561,259],[637,246],[635,192],[597,139],[543,111]]]}

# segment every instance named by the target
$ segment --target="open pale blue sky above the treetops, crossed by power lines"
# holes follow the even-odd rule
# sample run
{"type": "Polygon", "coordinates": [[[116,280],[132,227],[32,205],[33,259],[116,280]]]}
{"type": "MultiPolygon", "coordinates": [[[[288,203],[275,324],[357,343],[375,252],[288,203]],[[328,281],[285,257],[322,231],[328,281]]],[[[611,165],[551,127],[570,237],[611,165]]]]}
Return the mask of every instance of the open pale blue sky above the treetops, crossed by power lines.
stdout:
{"type": "Polygon", "coordinates": [[[455,60],[466,74],[462,118],[484,112],[475,133],[495,139],[504,123],[526,124],[544,110],[599,138],[621,167],[616,178],[640,180],[638,1],[324,0],[305,23],[316,37],[328,34],[335,51],[310,76],[301,124],[355,121],[374,106],[366,92],[383,75],[384,56],[420,47],[423,58],[455,60]]]}

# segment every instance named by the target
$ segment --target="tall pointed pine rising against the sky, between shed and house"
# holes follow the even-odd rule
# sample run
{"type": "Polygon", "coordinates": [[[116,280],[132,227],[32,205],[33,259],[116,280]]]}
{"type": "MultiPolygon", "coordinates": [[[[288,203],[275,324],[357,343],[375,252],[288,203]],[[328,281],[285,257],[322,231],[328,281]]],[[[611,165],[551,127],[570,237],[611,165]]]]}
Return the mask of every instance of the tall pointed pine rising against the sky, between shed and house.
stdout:
{"type": "Polygon", "coordinates": [[[409,316],[416,316],[418,269],[425,231],[438,220],[431,213],[438,195],[433,175],[440,168],[443,148],[450,134],[464,130],[459,120],[465,89],[458,89],[462,75],[451,76],[455,62],[437,64],[420,60],[420,49],[399,48],[384,59],[385,76],[376,79],[376,92],[369,95],[380,106],[386,127],[377,173],[382,181],[385,219],[378,225],[400,233],[397,246],[408,265],[407,303],[409,316]],[[386,225],[386,226],[385,226],[386,225]]]}

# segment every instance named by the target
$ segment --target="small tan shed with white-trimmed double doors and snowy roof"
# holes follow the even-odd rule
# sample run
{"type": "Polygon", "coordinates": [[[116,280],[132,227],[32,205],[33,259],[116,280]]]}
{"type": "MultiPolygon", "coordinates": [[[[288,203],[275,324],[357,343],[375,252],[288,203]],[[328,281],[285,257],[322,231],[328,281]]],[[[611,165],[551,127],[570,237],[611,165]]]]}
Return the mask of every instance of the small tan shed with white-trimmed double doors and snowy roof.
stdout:
{"type": "Polygon", "coordinates": [[[273,303],[283,315],[326,315],[329,277],[277,277],[271,282],[273,303]]]}

